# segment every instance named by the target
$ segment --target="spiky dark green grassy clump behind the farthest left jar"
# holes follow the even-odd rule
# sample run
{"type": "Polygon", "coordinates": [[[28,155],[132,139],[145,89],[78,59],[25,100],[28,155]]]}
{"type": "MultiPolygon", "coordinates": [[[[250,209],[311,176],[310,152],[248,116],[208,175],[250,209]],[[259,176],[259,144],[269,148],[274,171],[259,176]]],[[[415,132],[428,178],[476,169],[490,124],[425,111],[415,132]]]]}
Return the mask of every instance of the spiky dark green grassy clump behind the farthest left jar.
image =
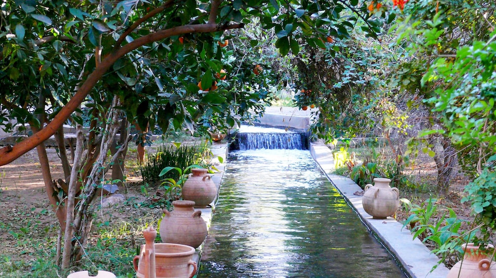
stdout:
{"type": "Polygon", "coordinates": [[[205,145],[162,145],[155,154],[149,155],[145,163],[139,165],[143,182],[158,184],[163,179],[179,179],[179,173],[170,171],[160,177],[162,169],[170,166],[185,169],[189,165],[201,164],[205,145]]]}

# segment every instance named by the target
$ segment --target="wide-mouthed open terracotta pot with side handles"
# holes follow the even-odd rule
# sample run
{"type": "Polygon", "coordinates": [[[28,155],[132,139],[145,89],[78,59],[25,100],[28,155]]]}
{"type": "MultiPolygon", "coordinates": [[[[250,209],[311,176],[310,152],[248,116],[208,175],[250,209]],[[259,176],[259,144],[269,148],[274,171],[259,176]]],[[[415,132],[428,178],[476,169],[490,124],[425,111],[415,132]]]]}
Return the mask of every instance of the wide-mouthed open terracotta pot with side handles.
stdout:
{"type": "MultiPolygon", "coordinates": [[[[135,256],[132,264],[137,278],[144,278],[145,244],[141,245],[139,256],[135,256]]],[[[192,260],[194,248],[175,243],[155,243],[155,275],[156,278],[192,278],[198,267],[192,260]]]]}

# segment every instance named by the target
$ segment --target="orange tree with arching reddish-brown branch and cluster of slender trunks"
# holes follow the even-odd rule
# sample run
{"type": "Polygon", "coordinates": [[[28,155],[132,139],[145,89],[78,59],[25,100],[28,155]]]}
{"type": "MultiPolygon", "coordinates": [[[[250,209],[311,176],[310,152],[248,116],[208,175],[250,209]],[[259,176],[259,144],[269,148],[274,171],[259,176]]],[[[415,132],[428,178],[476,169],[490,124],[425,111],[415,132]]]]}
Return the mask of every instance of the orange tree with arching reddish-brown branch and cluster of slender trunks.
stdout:
{"type": "Polygon", "coordinates": [[[213,90],[225,51],[233,47],[219,48],[217,42],[229,38],[226,31],[256,18],[261,28],[274,30],[276,47],[286,55],[299,52],[299,42],[322,46],[319,39],[327,33],[349,36],[359,18],[365,22],[362,29],[374,36],[379,22],[366,10],[358,0],[4,2],[0,124],[6,131],[14,121],[29,124],[33,133],[2,147],[0,165],[37,148],[47,195],[64,232],[62,268],[83,254],[96,189],[110,165],[122,162],[125,153],[126,118],[142,128],[157,125],[165,130],[172,122],[175,128],[185,124],[194,131],[196,120],[209,108],[231,109],[225,104],[235,99],[232,107],[246,111],[266,97],[258,93],[263,82],[253,86],[254,75],[243,74],[252,72],[254,65],[241,62],[232,84],[220,82],[213,90]],[[202,89],[212,90],[200,92],[200,81],[202,89]],[[244,93],[234,98],[240,91],[244,93]],[[82,118],[91,121],[87,135],[82,118]],[[56,135],[63,151],[61,128],[67,122],[76,125],[76,147],[72,165],[61,155],[64,177],[55,182],[42,143],[56,135]],[[122,136],[116,139],[119,130],[122,136]]]}

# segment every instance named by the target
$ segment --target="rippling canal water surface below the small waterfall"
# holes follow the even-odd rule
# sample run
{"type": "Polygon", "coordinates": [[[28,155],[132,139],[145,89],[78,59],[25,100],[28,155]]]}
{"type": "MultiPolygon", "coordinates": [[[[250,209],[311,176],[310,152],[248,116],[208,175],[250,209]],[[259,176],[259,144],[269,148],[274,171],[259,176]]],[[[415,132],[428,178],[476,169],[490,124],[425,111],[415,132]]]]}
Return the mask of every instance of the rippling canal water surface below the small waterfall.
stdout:
{"type": "Polygon", "coordinates": [[[199,278],[405,277],[309,151],[228,159],[199,278]]]}

